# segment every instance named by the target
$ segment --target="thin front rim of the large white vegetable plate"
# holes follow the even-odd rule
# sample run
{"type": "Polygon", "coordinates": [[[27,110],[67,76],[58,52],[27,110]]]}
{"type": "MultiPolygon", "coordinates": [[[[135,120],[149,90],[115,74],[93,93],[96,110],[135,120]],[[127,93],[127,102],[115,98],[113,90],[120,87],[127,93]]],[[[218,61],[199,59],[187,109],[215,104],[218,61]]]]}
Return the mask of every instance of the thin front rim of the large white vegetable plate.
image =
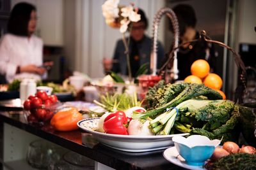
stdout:
{"type": "MultiPolygon", "coordinates": [[[[156,136],[136,136],[136,135],[120,135],[120,134],[106,134],[106,133],[102,133],[102,132],[97,132],[97,131],[92,131],[90,129],[86,129],[84,127],[82,127],[80,124],[84,121],[88,121],[88,120],[97,120],[99,119],[99,117],[97,118],[85,118],[83,120],[80,120],[79,122],[77,122],[77,126],[80,127],[81,129],[83,129],[86,132],[90,132],[92,134],[96,134],[98,136],[105,136],[105,137],[111,137],[111,138],[119,138],[119,139],[165,139],[165,138],[172,138],[173,136],[186,136],[189,135],[189,133],[182,133],[182,134],[168,134],[168,135],[156,135],[156,136]]],[[[142,141],[141,141],[142,142],[142,141]]]]}

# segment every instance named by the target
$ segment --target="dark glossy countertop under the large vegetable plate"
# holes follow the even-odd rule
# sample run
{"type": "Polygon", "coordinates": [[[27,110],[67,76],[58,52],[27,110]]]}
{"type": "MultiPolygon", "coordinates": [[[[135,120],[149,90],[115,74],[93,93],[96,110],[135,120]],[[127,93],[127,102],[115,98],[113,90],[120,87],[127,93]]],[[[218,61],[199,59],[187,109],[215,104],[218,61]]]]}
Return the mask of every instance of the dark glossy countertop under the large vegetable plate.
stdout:
{"type": "Polygon", "coordinates": [[[80,129],[59,132],[54,131],[47,124],[28,124],[22,110],[0,108],[0,120],[114,169],[181,169],[164,159],[164,150],[140,153],[122,152],[98,143],[91,134],[80,129]]]}

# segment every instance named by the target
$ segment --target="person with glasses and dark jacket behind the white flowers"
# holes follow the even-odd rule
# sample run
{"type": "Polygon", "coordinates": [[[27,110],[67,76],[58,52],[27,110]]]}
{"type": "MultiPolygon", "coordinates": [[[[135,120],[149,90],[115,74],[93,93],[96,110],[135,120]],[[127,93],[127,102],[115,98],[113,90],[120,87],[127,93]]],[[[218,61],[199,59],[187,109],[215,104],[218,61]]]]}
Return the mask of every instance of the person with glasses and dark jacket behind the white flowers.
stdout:
{"type": "MultiPolygon", "coordinates": [[[[142,64],[150,63],[150,53],[151,53],[151,38],[145,35],[145,30],[148,27],[148,20],[143,10],[139,9],[138,14],[140,14],[140,21],[132,22],[132,29],[130,31],[130,43],[129,43],[129,57],[131,63],[131,72],[134,77],[138,69],[142,64]]],[[[161,43],[157,44],[157,67],[161,65],[161,60],[164,58],[164,49],[161,43]]],[[[122,39],[119,39],[116,43],[115,53],[113,55],[113,60],[103,60],[104,70],[114,71],[115,73],[121,73],[124,75],[128,74],[127,70],[127,60],[125,57],[125,46],[122,39]],[[112,62],[112,61],[116,62],[112,62]]]]}

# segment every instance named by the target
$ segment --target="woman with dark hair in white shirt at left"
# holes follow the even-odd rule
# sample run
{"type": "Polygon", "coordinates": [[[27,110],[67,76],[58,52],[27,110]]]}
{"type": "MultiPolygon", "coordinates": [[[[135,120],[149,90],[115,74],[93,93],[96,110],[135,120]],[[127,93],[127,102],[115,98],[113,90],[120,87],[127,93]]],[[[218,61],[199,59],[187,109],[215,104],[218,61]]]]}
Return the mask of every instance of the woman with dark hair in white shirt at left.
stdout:
{"type": "Polygon", "coordinates": [[[43,42],[33,35],[35,29],[35,6],[16,4],[8,20],[8,33],[0,43],[0,74],[8,82],[20,78],[40,80],[40,76],[45,73],[42,67],[43,42]]]}

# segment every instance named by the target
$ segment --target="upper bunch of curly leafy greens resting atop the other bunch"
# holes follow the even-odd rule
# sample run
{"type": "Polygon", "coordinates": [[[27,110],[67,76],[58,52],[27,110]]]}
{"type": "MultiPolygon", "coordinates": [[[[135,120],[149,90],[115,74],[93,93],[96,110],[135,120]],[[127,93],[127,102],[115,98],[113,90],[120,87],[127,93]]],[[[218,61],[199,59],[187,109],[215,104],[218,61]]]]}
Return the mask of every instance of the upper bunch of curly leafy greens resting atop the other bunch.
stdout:
{"type": "MultiPolygon", "coordinates": [[[[161,81],[156,85],[161,85],[161,81]]],[[[161,89],[150,89],[159,92],[161,89]]],[[[222,99],[222,96],[216,91],[212,90],[209,87],[206,87],[203,84],[196,84],[196,83],[174,83],[174,84],[167,84],[162,89],[164,92],[162,92],[161,96],[158,96],[158,94],[153,94],[149,90],[146,101],[148,101],[149,104],[152,104],[148,106],[147,108],[150,108],[149,111],[146,111],[145,113],[140,113],[133,115],[132,118],[134,119],[146,119],[148,117],[150,118],[156,118],[157,115],[161,115],[161,113],[164,113],[167,108],[172,108],[177,106],[178,104],[182,103],[183,101],[189,100],[189,99],[196,99],[200,96],[205,96],[207,99],[222,99]],[[168,90],[166,90],[168,89],[168,90]],[[167,95],[167,93],[170,92],[170,95],[167,95]],[[149,94],[153,94],[153,96],[150,96],[149,94]],[[163,99],[162,103],[159,103],[163,99]],[[156,102],[157,101],[157,102],[156,102]]]]}

